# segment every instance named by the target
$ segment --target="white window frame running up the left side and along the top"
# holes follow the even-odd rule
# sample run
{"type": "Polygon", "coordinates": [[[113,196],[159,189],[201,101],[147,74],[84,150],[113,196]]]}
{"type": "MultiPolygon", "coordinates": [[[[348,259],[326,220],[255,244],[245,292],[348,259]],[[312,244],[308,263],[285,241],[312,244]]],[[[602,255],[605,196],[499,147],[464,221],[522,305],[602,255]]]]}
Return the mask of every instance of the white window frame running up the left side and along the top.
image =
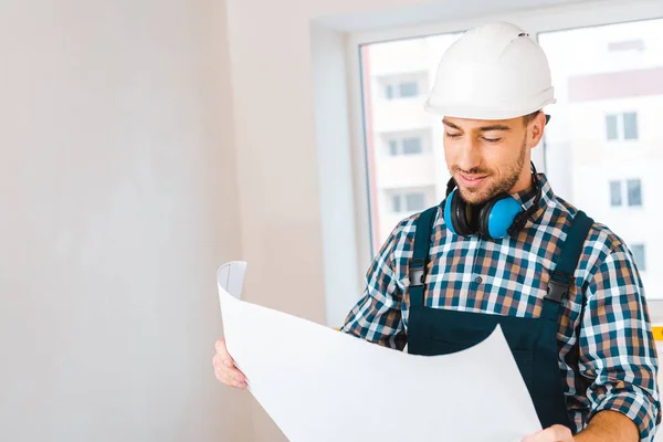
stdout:
{"type": "MultiPolygon", "coordinates": [[[[361,78],[361,45],[379,43],[392,40],[421,38],[445,33],[464,32],[465,30],[480,25],[486,21],[504,20],[518,23],[526,29],[530,35],[538,39],[539,33],[571,30],[577,28],[600,27],[619,24],[624,22],[655,20],[663,18],[663,2],[659,0],[640,1],[599,1],[599,2],[573,2],[508,11],[504,13],[486,14],[459,20],[438,21],[421,23],[418,25],[397,27],[387,30],[371,30],[365,32],[350,32],[346,34],[346,67],[348,74],[348,97],[350,115],[350,148],[352,152],[352,173],[355,213],[357,225],[368,228],[357,229],[357,262],[362,274],[370,265],[373,257],[375,242],[373,227],[371,225],[370,177],[368,176],[368,158],[365,148],[365,122],[362,94],[367,87],[361,78]],[[597,13],[600,9],[600,14],[597,13]]],[[[431,85],[432,86],[432,85],[431,85]]],[[[429,86],[430,88],[430,86],[429,86]]],[[[423,96],[427,91],[420,91],[423,105],[423,96]]],[[[623,114],[623,113],[622,113],[623,114]]],[[[619,115],[619,114],[618,114],[619,115]]],[[[623,126],[623,115],[618,118],[623,126]]],[[[618,125],[619,130],[619,125],[618,125]]],[[[623,130],[623,127],[622,127],[623,130]]],[[[639,137],[642,135],[639,128],[639,137]]],[[[620,141],[629,141],[619,139],[620,141]]],[[[545,144],[543,148],[535,149],[533,161],[539,170],[545,167],[545,144]],[[538,152],[537,152],[538,150],[538,152]]],[[[622,200],[622,207],[625,201],[622,200]]],[[[378,244],[379,246],[379,244],[378,244]]],[[[645,287],[646,290],[646,287],[645,287]]],[[[648,298],[652,323],[663,323],[663,297],[648,298]]]]}

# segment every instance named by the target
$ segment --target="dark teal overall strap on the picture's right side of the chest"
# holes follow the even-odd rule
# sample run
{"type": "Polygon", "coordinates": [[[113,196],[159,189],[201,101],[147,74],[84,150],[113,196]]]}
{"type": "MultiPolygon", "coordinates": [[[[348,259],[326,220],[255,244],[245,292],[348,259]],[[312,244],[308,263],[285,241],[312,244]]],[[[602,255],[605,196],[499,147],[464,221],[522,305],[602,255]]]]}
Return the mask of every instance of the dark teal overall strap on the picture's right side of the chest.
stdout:
{"type": "Polygon", "coordinates": [[[571,230],[561,245],[561,253],[555,270],[550,274],[548,294],[544,299],[561,304],[561,299],[568,295],[573,282],[573,273],[582,254],[582,245],[592,224],[593,220],[583,211],[580,210],[576,213],[571,221],[571,230]]]}

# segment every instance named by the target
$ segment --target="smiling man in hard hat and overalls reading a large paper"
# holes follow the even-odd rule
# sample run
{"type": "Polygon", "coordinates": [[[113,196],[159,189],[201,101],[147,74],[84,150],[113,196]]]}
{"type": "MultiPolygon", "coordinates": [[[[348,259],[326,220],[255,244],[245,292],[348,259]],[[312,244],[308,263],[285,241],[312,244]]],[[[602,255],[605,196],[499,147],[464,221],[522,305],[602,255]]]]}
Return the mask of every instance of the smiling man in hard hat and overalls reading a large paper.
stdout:
{"type": "MultiPolygon", "coordinates": [[[[633,256],[530,167],[550,83],[543,50],[509,23],[445,52],[425,107],[445,129],[446,198],[394,228],[341,330],[441,355],[499,324],[544,425],[525,442],[652,441],[657,356],[633,256]]],[[[214,369],[246,387],[222,340],[214,369]]]]}

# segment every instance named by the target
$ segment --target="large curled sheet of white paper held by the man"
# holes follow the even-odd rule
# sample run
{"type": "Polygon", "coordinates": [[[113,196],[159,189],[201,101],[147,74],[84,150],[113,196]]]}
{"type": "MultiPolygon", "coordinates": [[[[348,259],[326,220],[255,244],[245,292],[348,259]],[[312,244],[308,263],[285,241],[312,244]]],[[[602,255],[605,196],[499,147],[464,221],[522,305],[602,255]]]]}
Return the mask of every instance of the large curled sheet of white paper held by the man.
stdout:
{"type": "Polygon", "coordinates": [[[463,351],[408,355],[241,301],[245,269],[217,275],[228,350],[290,441],[517,442],[541,429],[499,327],[463,351]]]}

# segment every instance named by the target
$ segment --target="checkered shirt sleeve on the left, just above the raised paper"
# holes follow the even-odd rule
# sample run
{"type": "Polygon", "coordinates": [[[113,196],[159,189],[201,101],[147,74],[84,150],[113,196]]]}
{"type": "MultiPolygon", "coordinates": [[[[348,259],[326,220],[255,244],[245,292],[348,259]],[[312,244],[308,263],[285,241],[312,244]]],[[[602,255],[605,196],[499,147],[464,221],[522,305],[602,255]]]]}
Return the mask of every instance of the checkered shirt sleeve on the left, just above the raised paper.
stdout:
{"type": "Polygon", "coordinates": [[[364,295],[340,329],[399,350],[406,347],[407,337],[401,318],[402,291],[394,271],[393,252],[402,225],[391,232],[366,272],[364,295]]]}

